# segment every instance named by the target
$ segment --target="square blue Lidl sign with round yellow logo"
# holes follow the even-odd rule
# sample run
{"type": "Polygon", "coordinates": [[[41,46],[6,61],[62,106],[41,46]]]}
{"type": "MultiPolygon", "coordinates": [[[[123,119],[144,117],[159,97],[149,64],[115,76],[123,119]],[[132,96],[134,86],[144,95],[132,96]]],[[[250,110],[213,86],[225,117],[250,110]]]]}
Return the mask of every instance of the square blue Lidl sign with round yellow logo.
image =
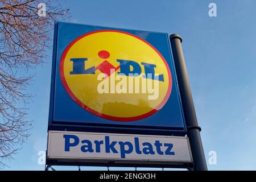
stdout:
{"type": "Polygon", "coordinates": [[[168,34],[55,24],[49,130],[185,134],[168,34]]]}

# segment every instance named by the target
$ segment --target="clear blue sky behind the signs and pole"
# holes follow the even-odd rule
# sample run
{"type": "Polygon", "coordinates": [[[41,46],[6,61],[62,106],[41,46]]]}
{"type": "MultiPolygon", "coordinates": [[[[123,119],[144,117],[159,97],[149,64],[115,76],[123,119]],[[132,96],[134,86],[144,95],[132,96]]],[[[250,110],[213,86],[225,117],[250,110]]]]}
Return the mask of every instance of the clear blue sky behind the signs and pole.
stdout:
{"type": "MultiPolygon", "coordinates": [[[[208,169],[256,169],[256,1],[61,2],[70,9],[70,22],[180,34],[207,162],[208,152],[217,152],[217,164],[208,169]],[[217,5],[217,17],[208,15],[210,2],[217,5]]],[[[31,137],[6,169],[44,169],[38,152],[47,142],[52,49],[47,53],[28,88],[36,95],[29,105],[31,137]]]]}

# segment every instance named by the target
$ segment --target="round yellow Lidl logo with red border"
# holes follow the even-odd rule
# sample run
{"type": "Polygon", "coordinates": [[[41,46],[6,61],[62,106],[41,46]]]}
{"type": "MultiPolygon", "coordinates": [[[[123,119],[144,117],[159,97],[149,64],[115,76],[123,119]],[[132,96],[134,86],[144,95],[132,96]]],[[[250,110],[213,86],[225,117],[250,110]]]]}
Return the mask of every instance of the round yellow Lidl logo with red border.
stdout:
{"type": "Polygon", "coordinates": [[[149,117],[171,94],[172,76],[164,57],[150,43],[123,31],[93,31],[73,40],[59,69],[77,104],[113,121],[149,117]]]}

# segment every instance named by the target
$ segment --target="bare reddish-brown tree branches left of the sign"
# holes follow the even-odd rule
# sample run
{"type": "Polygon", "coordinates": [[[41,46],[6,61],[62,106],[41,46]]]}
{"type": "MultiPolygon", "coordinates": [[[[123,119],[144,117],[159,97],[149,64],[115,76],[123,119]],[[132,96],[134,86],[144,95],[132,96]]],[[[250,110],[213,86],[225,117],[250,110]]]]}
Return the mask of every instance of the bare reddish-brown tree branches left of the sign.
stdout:
{"type": "Polygon", "coordinates": [[[13,159],[29,137],[26,92],[34,75],[31,68],[46,59],[55,20],[67,10],[58,1],[46,1],[46,16],[39,16],[40,0],[0,0],[0,168],[13,159]]]}

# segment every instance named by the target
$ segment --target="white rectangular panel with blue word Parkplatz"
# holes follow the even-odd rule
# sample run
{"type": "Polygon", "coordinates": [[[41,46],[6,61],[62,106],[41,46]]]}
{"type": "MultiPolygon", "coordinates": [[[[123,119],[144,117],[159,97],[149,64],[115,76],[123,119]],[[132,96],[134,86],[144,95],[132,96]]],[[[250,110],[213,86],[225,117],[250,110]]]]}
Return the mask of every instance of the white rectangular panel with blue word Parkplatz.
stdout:
{"type": "Polygon", "coordinates": [[[49,131],[48,159],[192,163],[187,137],[49,131]]]}

